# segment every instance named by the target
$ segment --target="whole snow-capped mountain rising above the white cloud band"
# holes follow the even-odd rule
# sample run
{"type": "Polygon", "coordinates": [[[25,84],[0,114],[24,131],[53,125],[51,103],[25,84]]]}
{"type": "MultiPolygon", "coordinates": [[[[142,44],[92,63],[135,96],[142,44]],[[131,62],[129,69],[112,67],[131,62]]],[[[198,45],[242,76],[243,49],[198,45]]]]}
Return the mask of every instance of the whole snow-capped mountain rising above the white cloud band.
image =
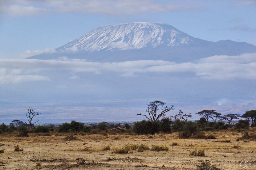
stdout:
{"type": "Polygon", "coordinates": [[[89,61],[191,61],[213,55],[240,55],[256,47],[230,40],[210,42],[157,22],[100,26],[72,42],[30,59],[68,58],[89,61]]]}

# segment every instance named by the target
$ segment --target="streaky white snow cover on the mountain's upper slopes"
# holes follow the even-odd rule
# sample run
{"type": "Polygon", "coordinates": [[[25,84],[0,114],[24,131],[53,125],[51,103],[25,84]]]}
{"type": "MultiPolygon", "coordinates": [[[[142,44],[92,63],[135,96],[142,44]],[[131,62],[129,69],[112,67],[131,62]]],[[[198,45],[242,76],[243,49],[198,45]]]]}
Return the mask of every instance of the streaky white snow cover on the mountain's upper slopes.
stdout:
{"type": "Polygon", "coordinates": [[[127,50],[159,45],[180,46],[199,39],[175,27],[154,22],[106,25],[56,49],[56,52],[127,50]]]}

